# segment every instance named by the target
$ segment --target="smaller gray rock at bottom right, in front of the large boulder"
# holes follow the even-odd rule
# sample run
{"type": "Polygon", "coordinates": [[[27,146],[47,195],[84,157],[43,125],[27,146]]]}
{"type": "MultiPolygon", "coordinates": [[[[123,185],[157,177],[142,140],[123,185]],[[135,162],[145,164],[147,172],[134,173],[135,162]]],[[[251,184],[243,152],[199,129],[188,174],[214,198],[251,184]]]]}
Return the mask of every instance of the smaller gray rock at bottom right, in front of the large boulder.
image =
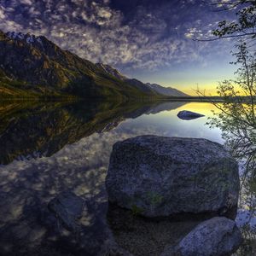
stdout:
{"type": "Polygon", "coordinates": [[[241,242],[233,220],[215,217],[199,224],[174,249],[166,247],[161,256],[227,256],[235,253],[241,242]]]}

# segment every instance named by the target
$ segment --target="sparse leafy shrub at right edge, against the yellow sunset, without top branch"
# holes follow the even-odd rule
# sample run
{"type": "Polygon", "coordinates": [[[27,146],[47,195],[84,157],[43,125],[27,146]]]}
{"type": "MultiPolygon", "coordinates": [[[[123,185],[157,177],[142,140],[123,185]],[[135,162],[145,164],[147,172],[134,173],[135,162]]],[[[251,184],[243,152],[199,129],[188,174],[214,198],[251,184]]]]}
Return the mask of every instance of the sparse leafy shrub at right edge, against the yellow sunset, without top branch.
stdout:
{"type": "Polygon", "coordinates": [[[236,79],[218,84],[223,102],[213,102],[220,112],[209,124],[218,126],[234,156],[243,158],[256,154],[256,55],[248,53],[246,44],[236,48],[236,79]]]}

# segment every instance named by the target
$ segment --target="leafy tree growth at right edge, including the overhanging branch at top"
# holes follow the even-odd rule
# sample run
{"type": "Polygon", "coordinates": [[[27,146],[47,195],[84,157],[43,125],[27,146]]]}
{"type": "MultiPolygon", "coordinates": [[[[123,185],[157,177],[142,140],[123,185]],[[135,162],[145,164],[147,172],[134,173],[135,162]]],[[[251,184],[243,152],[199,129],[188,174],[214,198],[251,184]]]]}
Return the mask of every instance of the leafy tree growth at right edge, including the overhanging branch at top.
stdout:
{"type": "MultiPolygon", "coordinates": [[[[220,21],[218,29],[212,31],[214,36],[256,38],[255,0],[217,1],[212,5],[222,10],[238,9],[237,20],[220,21]]],[[[218,96],[222,97],[223,102],[213,102],[220,112],[215,113],[209,125],[219,127],[232,154],[236,158],[246,159],[245,166],[250,166],[256,154],[256,52],[249,52],[245,41],[236,44],[236,49],[237,52],[233,53],[236,61],[231,62],[239,66],[236,79],[218,84],[218,96]]]]}

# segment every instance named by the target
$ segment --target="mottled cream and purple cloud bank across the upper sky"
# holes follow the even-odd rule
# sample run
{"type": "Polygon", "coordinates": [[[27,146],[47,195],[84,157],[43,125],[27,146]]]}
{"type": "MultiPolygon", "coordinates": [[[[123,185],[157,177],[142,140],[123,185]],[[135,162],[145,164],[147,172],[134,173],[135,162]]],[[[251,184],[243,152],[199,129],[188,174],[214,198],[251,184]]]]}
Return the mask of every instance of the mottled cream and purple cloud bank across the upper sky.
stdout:
{"type": "Polygon", "coordinates": [[[201,61],[188,38],[203,34],[195,16],[205,15],[192,13],[193,8],[199,8],[195,1],[163,1],[154,8],[147,2],[126,13],[109,0],[2,0],[0,28],[44,35],[90,61],[157,70],[201,61]]]}

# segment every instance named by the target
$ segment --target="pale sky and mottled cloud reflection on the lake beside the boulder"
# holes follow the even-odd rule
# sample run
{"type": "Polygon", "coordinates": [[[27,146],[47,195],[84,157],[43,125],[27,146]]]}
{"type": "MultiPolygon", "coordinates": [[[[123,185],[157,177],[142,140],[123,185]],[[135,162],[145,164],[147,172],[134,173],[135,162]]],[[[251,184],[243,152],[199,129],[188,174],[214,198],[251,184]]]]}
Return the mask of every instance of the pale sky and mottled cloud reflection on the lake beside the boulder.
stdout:
{"type": "MultiPolygon", "coordinates": [[[[178,111],[193,110],[196,106],[201,105],[183,106],[182,103],[177,109],[160,113],[155,112],[162,109],[148,110],[141,116],[138,114],[136,119],[123,119],[110,131],[91,133],[77,143],[67,144],[49,157],[14,160],[7,166],[0,166],[0,247],[3,254],[104,255],[109,247],[116,247],[113,222],[109,227],[107,220],[105,190],[113,143],[143,134],[207,137],[221,142],[218,129],[209,130],[204,125],[206,118],[189,123],[177,119],[178,111]],[[79,234],[62,228],[47,207],[55,195],[67,189],[81,196],[88,207],[79,221],[79,234]]],[[[211,107],[208,108],[204,108],[204,114],[211,113],[211,107]]]]}

